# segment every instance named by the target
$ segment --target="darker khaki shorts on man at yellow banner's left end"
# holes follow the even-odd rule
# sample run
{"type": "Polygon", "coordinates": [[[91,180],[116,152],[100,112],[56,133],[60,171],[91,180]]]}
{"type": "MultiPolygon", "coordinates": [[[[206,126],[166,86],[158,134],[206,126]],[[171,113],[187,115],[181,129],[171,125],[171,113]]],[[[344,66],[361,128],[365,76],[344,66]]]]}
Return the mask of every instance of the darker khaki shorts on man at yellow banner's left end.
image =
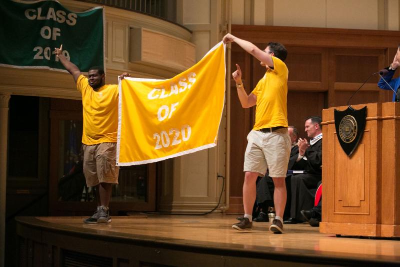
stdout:
{"type": "Polygon", "coordinates": [[[99,183],[118,183],[116,143],[83,145],[83,174],[87,186],[99,183]]]}

